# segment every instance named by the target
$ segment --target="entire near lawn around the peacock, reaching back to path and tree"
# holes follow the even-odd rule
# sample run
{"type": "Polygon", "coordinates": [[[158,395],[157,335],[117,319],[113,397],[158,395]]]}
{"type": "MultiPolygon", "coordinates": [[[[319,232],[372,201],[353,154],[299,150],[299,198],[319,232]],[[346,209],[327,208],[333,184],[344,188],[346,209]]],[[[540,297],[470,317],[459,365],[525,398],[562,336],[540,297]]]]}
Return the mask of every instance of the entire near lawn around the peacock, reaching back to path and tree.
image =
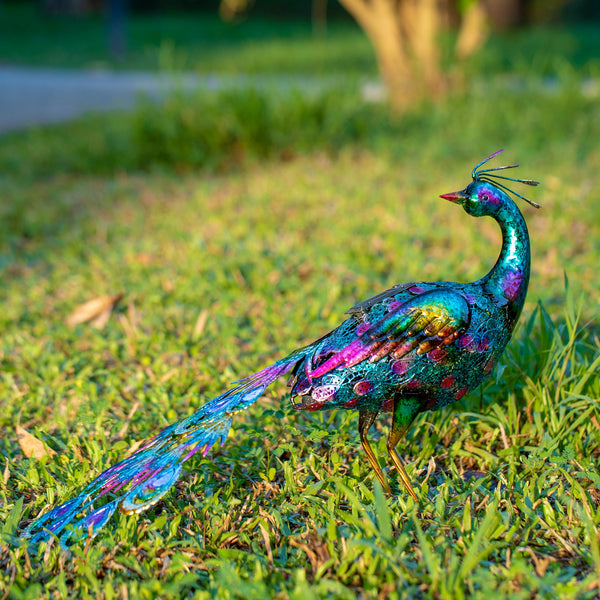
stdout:
{"type": "Polygon", "coordinates": [[[584,63],[552,92],[488,72],[400,120],[347,90],[246,94],[1,139],[0,597],[597,597],[600,98],[581,94],[584,63]],[[499,147],[542,182],[542,208],[522,205],[528,302],[481,393],[423,414],[400,449],[419,506],[383,496],[355,413],[295,413],[281,381],[152,510],[70,553],[19,544],[19,524],[357,301],[485,273],[497,227],[437,196],[499,147]],[[65,323],[119,292],[103,329],[65,323]],[[25,458],[17,423],[57,454],[25,458]]]}

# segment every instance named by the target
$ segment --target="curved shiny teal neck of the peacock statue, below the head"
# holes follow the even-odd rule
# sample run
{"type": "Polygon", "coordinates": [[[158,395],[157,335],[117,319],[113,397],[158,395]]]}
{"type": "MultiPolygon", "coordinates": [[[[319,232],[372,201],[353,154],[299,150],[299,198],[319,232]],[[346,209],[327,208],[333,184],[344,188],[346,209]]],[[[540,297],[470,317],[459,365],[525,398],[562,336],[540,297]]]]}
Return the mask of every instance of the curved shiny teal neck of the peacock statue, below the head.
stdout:
{"type": "Polygon", "coordinates": [[[502,204],[495,218],[502,230],[502,250],[492,270],[478,283],[500,305],[506,306],[512,325],[521,314],[529,285],[529,232],[523,215],[512,200],[502,204]]]}

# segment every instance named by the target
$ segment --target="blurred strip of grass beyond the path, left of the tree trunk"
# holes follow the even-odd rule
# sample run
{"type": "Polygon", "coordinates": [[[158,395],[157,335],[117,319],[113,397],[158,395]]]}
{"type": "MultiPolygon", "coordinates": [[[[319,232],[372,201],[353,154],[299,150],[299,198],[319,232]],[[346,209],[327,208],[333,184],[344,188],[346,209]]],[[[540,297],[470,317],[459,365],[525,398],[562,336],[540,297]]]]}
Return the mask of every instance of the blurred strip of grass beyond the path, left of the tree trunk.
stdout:
{"type": "Polygon", "coordinates": [[[0,62],[49,67],[190,70],[201,73],[288,73],[374,76],[367,39],[351,21],[313,35],[310,22],[253,18],[226,23],[217,15],[138,15],[128,27],[128,54],[107,51],[101,16],[41,14],[35,4],[0,7],[0,62]]]}

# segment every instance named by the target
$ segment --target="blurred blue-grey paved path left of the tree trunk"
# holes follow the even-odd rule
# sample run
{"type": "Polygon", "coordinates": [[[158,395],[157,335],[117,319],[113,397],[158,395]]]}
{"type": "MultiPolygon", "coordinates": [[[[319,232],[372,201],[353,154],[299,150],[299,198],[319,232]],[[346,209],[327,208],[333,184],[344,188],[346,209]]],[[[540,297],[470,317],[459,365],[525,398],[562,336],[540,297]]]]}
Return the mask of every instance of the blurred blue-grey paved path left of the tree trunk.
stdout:
{"type": "Polygon", "coordinates": [[[132,108],[140,95],[160,98],[173,89],[323,88],[335,78],[285,75],[162,75],[135,71],[85,71],[0,66],[0,134],[57,123],[89,111],[132,108]]]}

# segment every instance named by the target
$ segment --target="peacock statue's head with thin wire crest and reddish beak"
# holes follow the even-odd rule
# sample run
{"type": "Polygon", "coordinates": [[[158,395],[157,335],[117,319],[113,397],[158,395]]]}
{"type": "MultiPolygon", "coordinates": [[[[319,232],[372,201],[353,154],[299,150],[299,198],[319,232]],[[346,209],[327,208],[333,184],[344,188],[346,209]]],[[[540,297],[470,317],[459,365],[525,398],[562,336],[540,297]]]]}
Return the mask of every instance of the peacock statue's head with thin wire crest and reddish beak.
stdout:
{"type": "Polygon", "coordinates": [[[473,169],[473,182],[464,190],[461,190],[460,192],[451,192],[450,194],[442,194],[440,198],[460,204],[468,214],[474,217],[493,216],[497,214],[503,204],[512,203],[512,200],[508,195],[509,193],[525,200],[525,202],[528,202],[531,206],[539,208],[540,205],[536,202],[532,202],[525,198],[525,196],[511,190],[505,184],[498,181],[499,179],[503,179],[505,181],[524,183],[525,185],[538,185],[539,182],[534,181],[533,179],[515,179],[513,177],[504,177],[503,175],[495,173],[495,171],[502,171],[504,169],[514,169],[519,165],[507,165],[493,169],[479,169],[479,167],[494,158],[494,156],[500,154],[500,152],[502,152],[502,150],[498,150],[498,152],[488,156],[485,160],[482,160],[475,166],[473,169]]]}

